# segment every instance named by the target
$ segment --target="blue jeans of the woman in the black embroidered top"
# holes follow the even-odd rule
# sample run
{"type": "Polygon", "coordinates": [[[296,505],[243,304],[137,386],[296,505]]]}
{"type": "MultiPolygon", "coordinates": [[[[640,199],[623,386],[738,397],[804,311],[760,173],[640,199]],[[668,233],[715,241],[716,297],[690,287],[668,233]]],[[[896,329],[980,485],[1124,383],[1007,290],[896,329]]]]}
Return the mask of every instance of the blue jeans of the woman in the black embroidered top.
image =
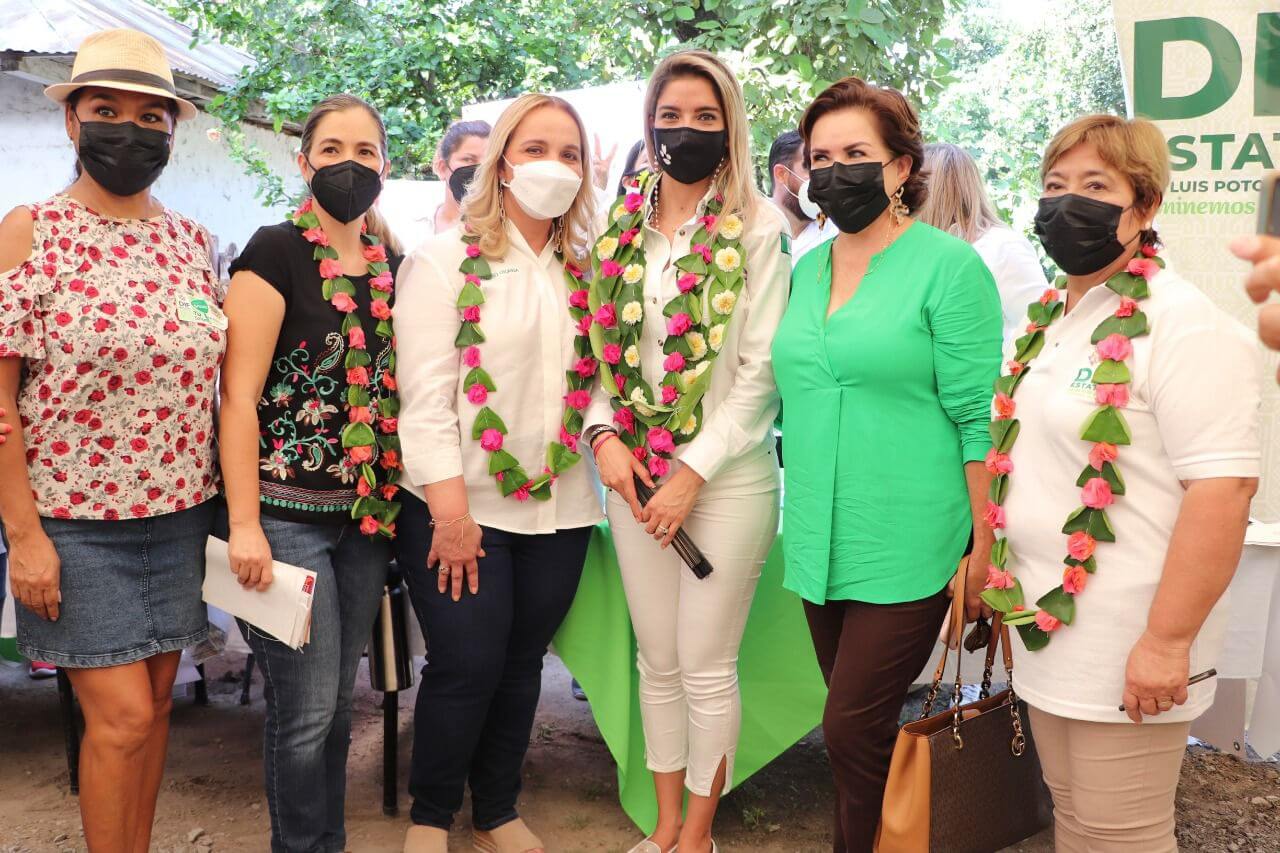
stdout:
{"type": "Polygon", "coordinates": [[[340,853],[347,843],[351,694],[369,646],[390,562],[390,543],[355,524],[262,516],[279,562],[317,574],[311,642],[298,651],[241,622],[266,695],[262,768],[273,853],[340,853]]]}

